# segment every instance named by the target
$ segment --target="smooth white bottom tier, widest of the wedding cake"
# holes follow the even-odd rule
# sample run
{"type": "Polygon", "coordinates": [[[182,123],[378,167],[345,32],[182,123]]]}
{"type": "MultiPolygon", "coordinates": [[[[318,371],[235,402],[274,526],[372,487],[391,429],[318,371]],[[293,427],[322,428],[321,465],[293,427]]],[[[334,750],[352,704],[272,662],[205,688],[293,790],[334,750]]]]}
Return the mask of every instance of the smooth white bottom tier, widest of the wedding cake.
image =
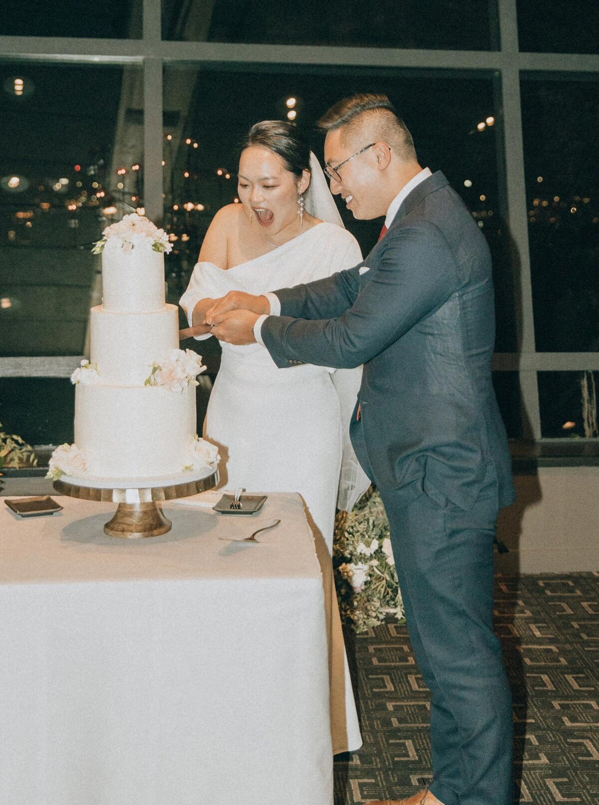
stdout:
{"type": "Polygon", "coordinates": [[[196,434],[196,387],[85,386],[75,394],[75,444],[93,477],[180,473],[196,434]]]}

